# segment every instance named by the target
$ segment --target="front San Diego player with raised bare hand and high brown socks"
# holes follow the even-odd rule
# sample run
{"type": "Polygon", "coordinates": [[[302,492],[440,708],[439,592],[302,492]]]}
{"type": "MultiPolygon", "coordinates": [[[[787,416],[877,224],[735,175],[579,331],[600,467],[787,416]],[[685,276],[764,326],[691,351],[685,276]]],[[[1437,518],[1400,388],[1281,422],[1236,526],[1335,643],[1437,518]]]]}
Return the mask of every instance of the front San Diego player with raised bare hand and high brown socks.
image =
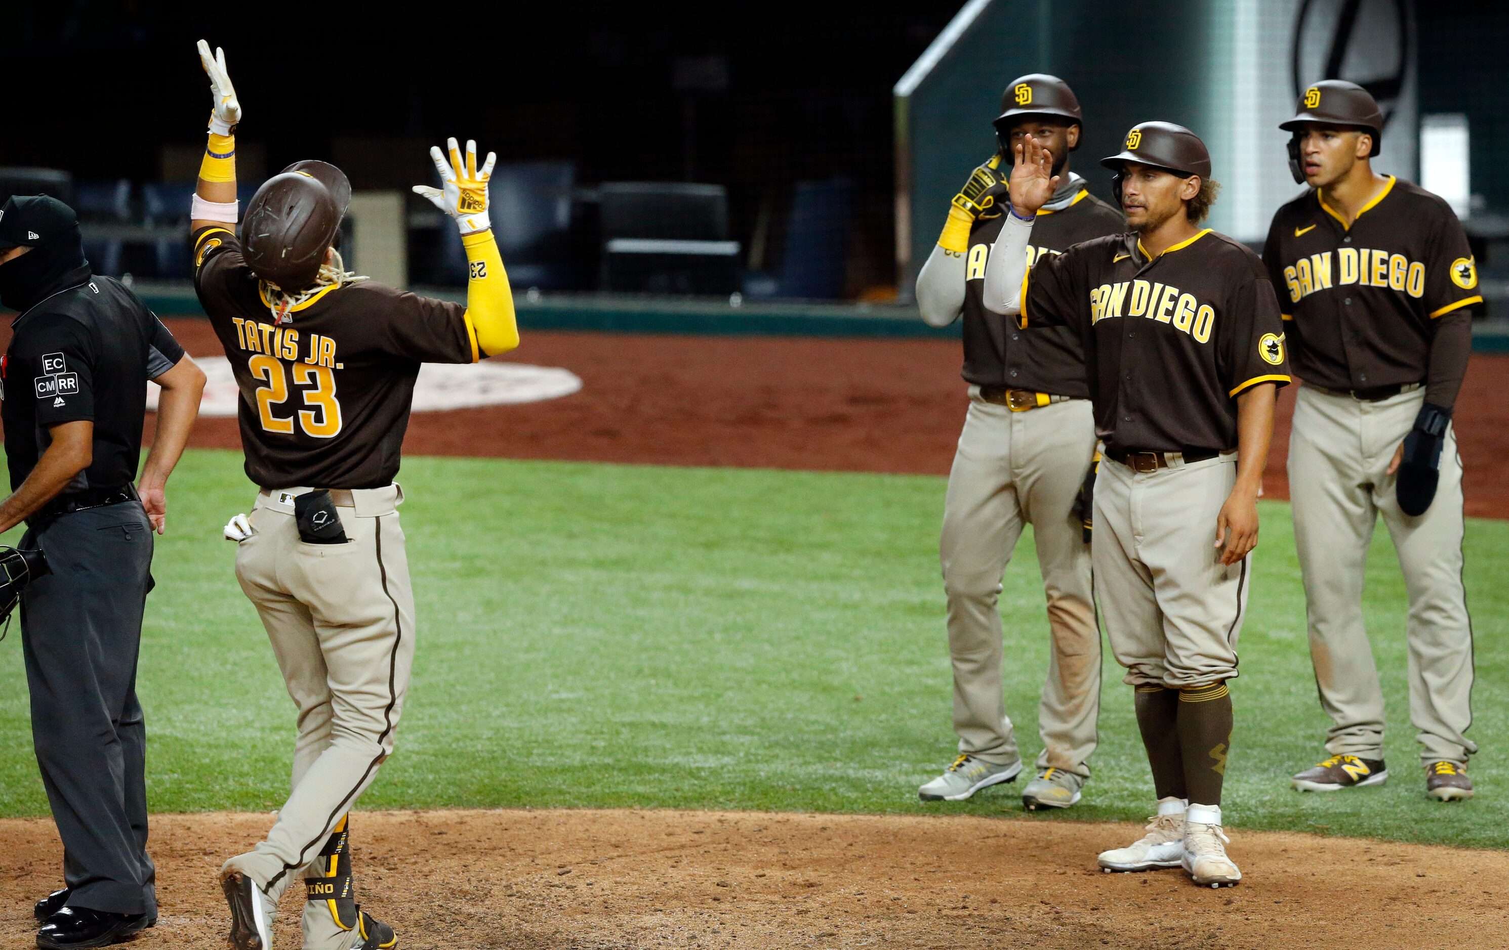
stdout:
{"type": "Polygon", "coordinates": [[[1037,210],[1058,185],[1050,164],[1035,140],[1019,148],[984,303],[1019,315],[1025,332],[1070,326],[1085,347],[1105,445],[1096,590],[1159,798],[1147,835],[1103,852],[1100,866],[1182,864],[1197,884],[1236,884],[1221,826],[1225,683],[1237,674],[1274,398],[1289,383],[1278,300],[1257,255],[1197,229],[1215,201],[1210,155],[1168,122],[1135,127],[1102,160],[1117,172],[1132,234],[1046,255],[1028,271],[1037,210]]]}

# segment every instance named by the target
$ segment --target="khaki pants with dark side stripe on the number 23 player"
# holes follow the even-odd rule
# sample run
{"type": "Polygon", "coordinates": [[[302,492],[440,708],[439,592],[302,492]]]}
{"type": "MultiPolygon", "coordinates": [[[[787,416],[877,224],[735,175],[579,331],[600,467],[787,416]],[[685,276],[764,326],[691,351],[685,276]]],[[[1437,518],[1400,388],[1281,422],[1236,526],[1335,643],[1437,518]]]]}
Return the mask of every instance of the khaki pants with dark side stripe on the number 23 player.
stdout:
{"type": "MultiPolygon", "coordinates": [[[[299,540],[293,514],[299,492],[258,496],[250,514],[255,534],[235,553],[235,576],[261,614],[299,707],[293,793],[267,838],[226,861],[273,899],[296,878],[324,873],[315,863],[320,849],[392,752],[415,639],[397,511],[403,492],[388,486],[350,492],[350,499],[338,495],[347,544],[299,540]]],[[[305,929],[309,948],[352,941],[333,926],[309,933],[308,914],[305,929]]]]}

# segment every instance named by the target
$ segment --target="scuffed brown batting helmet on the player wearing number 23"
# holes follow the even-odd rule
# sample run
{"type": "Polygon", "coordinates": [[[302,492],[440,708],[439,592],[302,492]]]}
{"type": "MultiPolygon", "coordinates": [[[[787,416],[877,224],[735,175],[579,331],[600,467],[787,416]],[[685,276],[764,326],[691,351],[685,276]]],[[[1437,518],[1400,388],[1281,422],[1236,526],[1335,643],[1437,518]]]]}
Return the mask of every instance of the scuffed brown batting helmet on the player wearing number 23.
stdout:
{"type": "Polygon", "coordinates": [[[246,264],[284,293],[311,287],[350,201],[352,182],[341,169],[324,161],[290,164],[246,202],[246,264]]]}

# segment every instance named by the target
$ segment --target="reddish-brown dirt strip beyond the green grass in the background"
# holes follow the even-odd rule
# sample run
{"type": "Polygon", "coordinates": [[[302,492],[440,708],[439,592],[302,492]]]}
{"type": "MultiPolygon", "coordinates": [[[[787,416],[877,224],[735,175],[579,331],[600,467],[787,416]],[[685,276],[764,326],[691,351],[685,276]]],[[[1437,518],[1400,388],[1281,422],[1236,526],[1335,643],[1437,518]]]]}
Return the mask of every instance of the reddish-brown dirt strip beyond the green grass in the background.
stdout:
{"type": "MultiPolygon", "coordinates": [[[[196,356],[204,320],[169,321],[196,356]]],[[[967,400],[955,341],[525,332],[509,360],[564,366],[581,392],[415,416],[406,454],[948,475],[967,400]]],[[[1509,356],[1474,356],[1456,403],[1467,513],[1509,517],[1509,356]]],[[[1289,498],[1295,388],[1280,391],[1263,490],[1289,498]]],[[[193,445],[241,446],[235,419],[193,445]]]]}

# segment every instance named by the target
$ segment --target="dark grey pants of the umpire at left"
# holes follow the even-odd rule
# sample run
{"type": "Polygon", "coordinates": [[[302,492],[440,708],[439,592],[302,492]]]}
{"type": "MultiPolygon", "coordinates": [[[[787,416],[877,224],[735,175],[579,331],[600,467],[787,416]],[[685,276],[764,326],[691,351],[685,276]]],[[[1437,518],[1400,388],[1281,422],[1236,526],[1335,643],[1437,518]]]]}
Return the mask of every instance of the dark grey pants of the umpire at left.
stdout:
{"type": "Polygon", "coordinates": [[[146,727],[136,701],[152,531],[139,501],[42,522],[53,573],[21,597],[32,742],[63,840],[69,906],[157,914],[146,857],[146,727]]]}

